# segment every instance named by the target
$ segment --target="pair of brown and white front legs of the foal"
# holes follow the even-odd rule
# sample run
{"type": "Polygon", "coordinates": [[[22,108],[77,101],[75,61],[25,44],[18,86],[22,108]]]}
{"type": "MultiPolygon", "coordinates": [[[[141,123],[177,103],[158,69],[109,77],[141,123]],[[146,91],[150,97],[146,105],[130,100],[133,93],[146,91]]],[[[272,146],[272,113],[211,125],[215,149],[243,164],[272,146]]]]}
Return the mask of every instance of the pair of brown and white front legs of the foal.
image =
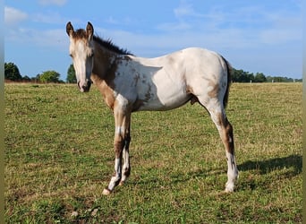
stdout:
{"type": "Polygon", "coordinates": [[[102,194],[111,194],[115,186],[124,181],[130,174],[129,144],[131,113],[114,111],[115,114],[115,174],[102,194]],[[124,158],[124,164],[123,164],[124,158]]]}

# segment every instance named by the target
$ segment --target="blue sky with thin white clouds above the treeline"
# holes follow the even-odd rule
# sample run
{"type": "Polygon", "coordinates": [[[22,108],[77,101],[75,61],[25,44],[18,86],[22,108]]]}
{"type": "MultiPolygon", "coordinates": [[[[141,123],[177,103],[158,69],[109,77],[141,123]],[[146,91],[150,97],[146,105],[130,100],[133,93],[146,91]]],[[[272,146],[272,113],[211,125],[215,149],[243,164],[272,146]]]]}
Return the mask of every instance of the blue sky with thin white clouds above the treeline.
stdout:
{"type": "Polygon", "coordinates": [[[91,22],[136,56],[204,47],[236,69],[302,78],[302,0],[5,1],[5,62],[21,75],[55,70],[65,80],[69,21],[75,29],[91,22]]]}

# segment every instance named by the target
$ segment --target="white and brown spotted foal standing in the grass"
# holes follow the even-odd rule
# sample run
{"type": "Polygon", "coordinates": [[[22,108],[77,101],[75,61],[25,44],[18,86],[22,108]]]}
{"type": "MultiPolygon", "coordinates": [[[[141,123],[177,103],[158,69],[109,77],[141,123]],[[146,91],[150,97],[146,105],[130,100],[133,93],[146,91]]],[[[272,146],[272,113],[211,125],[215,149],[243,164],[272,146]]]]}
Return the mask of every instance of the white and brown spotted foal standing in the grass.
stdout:
{"type": "Polygon", "coordinates": [[[227,182],[225,192],[234,192],[238,169],[234,157],[233,126],[225,114],[232,66],[223,56],[204,48],[190,47],[166,56],[144,58],[115,46],[110,39],[66,24],[69,52],[81,92],[97,85],[115,116],[115,175],[102,194],[111,194],[131,174],[131,114],[165,111],[191,102],[206,108],[225,146],[227,182]]]}

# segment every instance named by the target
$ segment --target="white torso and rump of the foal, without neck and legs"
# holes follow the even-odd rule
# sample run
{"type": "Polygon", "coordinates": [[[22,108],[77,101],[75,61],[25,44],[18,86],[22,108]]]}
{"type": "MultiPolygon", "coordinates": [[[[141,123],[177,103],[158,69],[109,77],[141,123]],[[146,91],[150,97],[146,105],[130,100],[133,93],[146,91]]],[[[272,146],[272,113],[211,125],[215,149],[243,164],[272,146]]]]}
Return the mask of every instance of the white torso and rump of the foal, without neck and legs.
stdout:
{"type": "MultiPolygon", "coordinates": [[[[208,96],[217,83],[227,83],[222,56],[207,49],[191,47],[155,58],[124,57],[117,65],[114,94],[130,103],[141,100],[140,107],[134,110],[179,108],[191,95],[208,96]]],[[[218,95],[223,97],[225,91],[218,95]]],[[[200,100],[208,103],[208,99],[200,100]]]]}

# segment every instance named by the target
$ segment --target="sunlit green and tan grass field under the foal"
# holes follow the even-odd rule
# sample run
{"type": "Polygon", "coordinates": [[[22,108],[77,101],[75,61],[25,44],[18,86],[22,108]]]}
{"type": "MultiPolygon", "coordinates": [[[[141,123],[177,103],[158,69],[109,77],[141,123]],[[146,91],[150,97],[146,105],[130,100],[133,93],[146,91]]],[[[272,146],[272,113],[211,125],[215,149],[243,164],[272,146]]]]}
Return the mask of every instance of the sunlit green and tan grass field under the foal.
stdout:
{"type": "Polygon", "coordinates": [[[7,223],[301,223],[302,84],[232,85],[237,190],[195,104],[132,115],[132,175],[114,172],[114,118],[93,87],[5,84],[7,223]]]}

